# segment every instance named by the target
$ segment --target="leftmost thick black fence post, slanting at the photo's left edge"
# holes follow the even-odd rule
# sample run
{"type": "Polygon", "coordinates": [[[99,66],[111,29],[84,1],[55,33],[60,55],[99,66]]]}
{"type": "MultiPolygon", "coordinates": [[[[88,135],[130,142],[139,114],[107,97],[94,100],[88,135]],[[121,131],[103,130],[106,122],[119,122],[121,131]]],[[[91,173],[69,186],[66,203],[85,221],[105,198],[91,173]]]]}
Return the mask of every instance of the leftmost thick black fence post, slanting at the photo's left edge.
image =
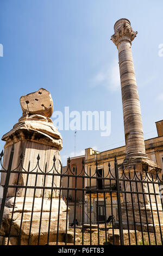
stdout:
{"type": "Polygon", "coordinates": [[[5,178],[5,185],[4,185],[4,191],[3,191],[3,198],[2,198],[1,210],[0,210],[0,230],[1,230],[1,224],[2,224],[4,206],[5,206],[5,199],[6,199],[6,197],[7,197],[7,192],[8,192],[8,186],[9,186],[10,172],[11,172],[11,166],[12,166],[12,159],[13,159],[13,156],[14,156],[14,144],[12,145],[12,148],[11,148],[10,159],[9,159],[9,165],[8,165],[8,169],[7,169],[7,175],[6,175],[6,178],[5,178]]]}

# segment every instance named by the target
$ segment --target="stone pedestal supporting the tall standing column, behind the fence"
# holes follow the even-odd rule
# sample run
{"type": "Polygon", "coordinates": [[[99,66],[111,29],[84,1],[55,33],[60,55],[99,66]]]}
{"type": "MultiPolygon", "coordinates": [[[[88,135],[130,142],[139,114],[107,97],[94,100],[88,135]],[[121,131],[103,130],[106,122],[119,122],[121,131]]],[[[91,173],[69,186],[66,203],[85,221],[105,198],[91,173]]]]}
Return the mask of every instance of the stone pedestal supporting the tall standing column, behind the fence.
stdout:
{"type": "Polygon", "coordinates": [[[136,159],[130,164],[119,164],[119,170],[119,176],[122,176],[122,179],[125,180],[124,182],[121,181],[122,191],[129,192],[126,193],[126,196],[123,193],[121,204],[123,228],[128,228],[128,218],[130,229],[136,228],[139,231],[142,229],[143,231],[153,232],[154,226],[159,225],[159,221],[160,224],[163,224],[159,185],[151,182],[156,180],[156,172],[160,173],[161,168],[151,160],[136,159]],[[128,179],[131,181],[128,181],[128,179]]]}

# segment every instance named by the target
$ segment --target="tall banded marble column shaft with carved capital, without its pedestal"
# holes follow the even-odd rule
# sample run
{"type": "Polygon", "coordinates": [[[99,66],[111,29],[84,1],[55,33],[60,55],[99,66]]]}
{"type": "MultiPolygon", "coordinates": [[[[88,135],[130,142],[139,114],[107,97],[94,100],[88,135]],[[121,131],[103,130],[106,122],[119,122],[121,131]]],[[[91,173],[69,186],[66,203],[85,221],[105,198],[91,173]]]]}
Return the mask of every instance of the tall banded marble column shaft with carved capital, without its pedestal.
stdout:
{"type": "Polygon", "coordinates": [[[145,152],[139,95],[134,72],[131,41],[137,32],[130,21],[120,19],[114,26],[115,34],[111,40],[117,46],[120,66],[124,132],[126,139],[126,160],[135,157],[148,158],[145,152]]]}

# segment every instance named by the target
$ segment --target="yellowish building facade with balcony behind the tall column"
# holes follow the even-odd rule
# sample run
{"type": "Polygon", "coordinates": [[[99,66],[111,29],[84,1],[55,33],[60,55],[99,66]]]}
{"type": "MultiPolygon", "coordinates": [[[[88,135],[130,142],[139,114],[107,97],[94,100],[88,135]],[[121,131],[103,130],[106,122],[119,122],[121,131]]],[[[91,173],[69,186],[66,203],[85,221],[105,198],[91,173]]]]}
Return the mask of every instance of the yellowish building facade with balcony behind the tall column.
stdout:
{"type": "MultiPolygon", "coordinates": [[[[162,173],[160,173],[160,178],[163,174],[163,120],[156,122],[156,128],[158,131],[158,137],[147,139],[145,141],[145,148],[146,148],[146,154],[148,155],[149,159],[156,162],[158,166],[162,168],[162,173]]],[[[126,146],[118,147],[115,149],[106,150],[103,152],[99,152],[96,150],[93,150],[92,148],[85,149],[85,172],[88,175],[93,175],[96,173],[96,168],[98,168],[98,172],[96,173],[96,176],[103,176],[106,177],[109,172],[113,176],[115,176],[115,168],[114,168],[114,158],[115,155],[117,157],[117,163],[121,164],[125,157],[126,157],[126,146]],[[96,167],[96,161],[98,163],[98,166],[96,167]],[[110,167],[108,166],[108,163],[110,163],[110,167]],[[91,168],[90,168],[91,167],[91,168]],[[90,173],[91,169],[91,173],[90,173]]],[[[94,192],[91,192],[91,200],[92,200],[92,221],[96,223],[97,218],[101,221],[105,220],[105,214],[104,214],[104,193],[98,193],[98,199],[97,199],[97,189],[112,189],[114,190],[114,187],[116,184],[112,182],[110,184],[107,183],[107,180],[105,180],[105,184],[103,183],[103,180],[98,181],[98,179],[91,180],[91,186],[89,184],[89,179],[85,179],[85,187],[91,188],[94,190],[94,192]],[[98,211],[97,211],[97,200],[98,200],[98,211]],[[98,212],[98,216],[97,216],[98,212]]],[[[85,193],[85,200],[87,202],[90,201],[90,193],[85,193]]],[[[114,216],[117,218],[117,197],[116,193],[105,193],[105,203],[106,203],[106,211],[107,216],[109,216],[109,212],[111,211],[111,208],[114,209],[114,216]]],[[[123,198],[121,197],[121,202],[123,201],[123,198]]]]}

